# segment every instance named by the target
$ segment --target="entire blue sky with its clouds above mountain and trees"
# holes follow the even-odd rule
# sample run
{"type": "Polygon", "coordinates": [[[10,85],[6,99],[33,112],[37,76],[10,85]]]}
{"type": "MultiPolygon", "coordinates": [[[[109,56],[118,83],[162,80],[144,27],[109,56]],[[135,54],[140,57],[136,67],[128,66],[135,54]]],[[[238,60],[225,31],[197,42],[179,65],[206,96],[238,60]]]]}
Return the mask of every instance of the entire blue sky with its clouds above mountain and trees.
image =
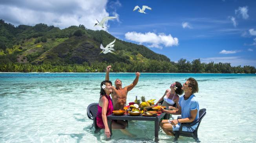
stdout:
{"type": "Polygon", "coordinates": [[[117,16],[105,30],[171,61],[200,58],[256,67],[255,0],[2,0],[0,11],[0,19],[16,26],[46,23],[61,29],[79,24],[101,29],[93,27],[95,18],[117,16]],[[132,11],[136,5],[152,11],[132,11]]]}

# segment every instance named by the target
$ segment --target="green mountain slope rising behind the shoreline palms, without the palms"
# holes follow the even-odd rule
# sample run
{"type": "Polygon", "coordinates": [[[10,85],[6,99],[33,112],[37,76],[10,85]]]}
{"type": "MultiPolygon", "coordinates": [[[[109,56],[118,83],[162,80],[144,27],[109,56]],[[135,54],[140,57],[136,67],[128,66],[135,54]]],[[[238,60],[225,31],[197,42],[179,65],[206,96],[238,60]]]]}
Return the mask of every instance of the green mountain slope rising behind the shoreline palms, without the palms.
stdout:
{"type": "Polygon", "coordinates": [[[0,63],[170,62],[165,55],[156,54],[143,45],[119,39],[114,43],[114,54],[100,54],[100,44],[106,46],[114,39],[115,37],[104,30],[90,30],[84,25],[61,30],[42,23],[15,27],[0,20],[0,63]]]}

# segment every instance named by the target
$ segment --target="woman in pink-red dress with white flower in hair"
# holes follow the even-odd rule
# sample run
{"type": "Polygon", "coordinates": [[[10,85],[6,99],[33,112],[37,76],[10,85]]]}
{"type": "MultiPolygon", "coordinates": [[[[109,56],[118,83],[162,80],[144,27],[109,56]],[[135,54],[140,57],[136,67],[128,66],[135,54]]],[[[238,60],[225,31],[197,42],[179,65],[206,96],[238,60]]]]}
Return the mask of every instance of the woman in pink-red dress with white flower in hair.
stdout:
{"type": "MultiPolygon", "coordinates": [[[[110,138],[110,129],[108,127],[108,120],[107,116],[112,114],[113,112],[113,104],[110,98],[110,93],[113,91],[112,89],[112,82],[108,80],[104,80],[101,82],[101,97],[98,104],[98,113],[96,117],[97,126],[101,129],[105,129],[105,135],[107,138],[110,138]]],[[[123,121],[124,122],[124,121],[123,121]]],[[[112,122],[112,129],[121,129],[121,131],[124,134],[127,134],[128,136],[133,136],[130,134],[127,130],[125,130],[125,127],[122,121],[116,121],[112,122]]]]}

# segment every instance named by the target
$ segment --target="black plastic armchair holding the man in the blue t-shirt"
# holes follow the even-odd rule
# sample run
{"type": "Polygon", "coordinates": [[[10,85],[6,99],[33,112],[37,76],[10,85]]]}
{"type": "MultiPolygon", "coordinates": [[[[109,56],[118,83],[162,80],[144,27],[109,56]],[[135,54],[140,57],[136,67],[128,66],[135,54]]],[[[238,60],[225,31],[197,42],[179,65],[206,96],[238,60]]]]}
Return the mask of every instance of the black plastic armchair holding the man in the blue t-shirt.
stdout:
{"type": "MultiPolygon", "coordinates": [[[[198,138],[197,138],[197,130],[199,128],[199,125],[201,123],[201,120],[203,119],[203,117],[205,116],[206,114],[206,109],[203,108],[203,109],[200,109],[199,110],[199,118],[194,121],[194,122],[191,122],[191,123],[181,123],[180,127],[179,127],[179,131],[175,131],[174,134],[175,134],[175,141],[177,141],[177,139],[179,138],[179,136],[186,136],[186,137],[192,137],[194,138],[196,141],[199,141],[198,138]],[[182,131],[182,127],[192,127],[193,125],[196,125],[196,123],[198,123],[197,125],[197,128],[196,130],[194,130],[194,132],[186,132],[186,131],[182,131]]],[[[181,117],[178,117],[178,118],[181,118],[181,117]]]]}

